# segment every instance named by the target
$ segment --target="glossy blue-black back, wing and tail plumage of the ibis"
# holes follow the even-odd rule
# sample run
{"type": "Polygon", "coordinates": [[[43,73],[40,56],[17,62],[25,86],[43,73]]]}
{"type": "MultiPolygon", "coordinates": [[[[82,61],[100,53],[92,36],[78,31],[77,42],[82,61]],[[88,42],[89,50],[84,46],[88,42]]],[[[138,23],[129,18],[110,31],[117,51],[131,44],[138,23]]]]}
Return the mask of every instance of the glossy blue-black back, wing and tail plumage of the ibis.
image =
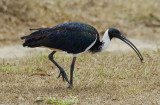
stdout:
{"type": "MultiPolygon", "coordinates": [[[[38,31],[21,38],[25,39],[23,46],[45,46],[77,54],[85,51],[96,39],[95,44],[100,44],[97,30],[84,23],[68,22],[52,28],[34,30],[38,31]]],[[[98,51],[98,46],[93,45],[90,51],[98,51]]]]}

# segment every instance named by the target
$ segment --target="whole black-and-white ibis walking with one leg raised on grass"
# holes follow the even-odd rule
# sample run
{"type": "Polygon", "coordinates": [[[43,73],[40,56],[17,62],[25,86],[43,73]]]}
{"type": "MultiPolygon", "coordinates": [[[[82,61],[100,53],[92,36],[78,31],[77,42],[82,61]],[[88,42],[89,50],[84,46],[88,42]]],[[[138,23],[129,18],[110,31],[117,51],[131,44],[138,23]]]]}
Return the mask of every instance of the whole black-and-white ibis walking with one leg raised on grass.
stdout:
{"type": "Polygon", "coordinates": [[[137,53],[141,62],[143,61],[143,57],[135,45],[114,27],[108,28],[105,31],[101,41],[96,28],[81,22],[67,22],[58,24],[51,28],[30,30],[34,32],[21,37],[22,40],[25,40],[23,46],[30,48],[47,47],[51,49],[52,52],[48,55],[49,60],[59,68],[60,73],[58,78],[62,76],[63,81],[67,81],[69,83],[69,88],[73,87],[73,71],[79,54],[86,51],[91,53],[105,51],[113,38],[118,38],[128,44],[137,53]],[[65,70],[53,58],[53,55],[57,51],[64,51],[69,54],[73,54],[70,66],[70,81],[65,70]]]}

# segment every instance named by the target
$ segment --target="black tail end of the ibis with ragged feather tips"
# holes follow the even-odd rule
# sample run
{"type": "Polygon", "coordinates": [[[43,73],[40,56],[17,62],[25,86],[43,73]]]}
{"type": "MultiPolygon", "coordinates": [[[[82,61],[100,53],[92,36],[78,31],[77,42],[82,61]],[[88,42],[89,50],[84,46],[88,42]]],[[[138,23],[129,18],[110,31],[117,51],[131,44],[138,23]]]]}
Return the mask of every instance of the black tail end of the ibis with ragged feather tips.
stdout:
{"type": "Polygon", "coordinates": [[[40,47],[44,46],[46,39],[47,39],[47,34],[46,30],[48,28],[39,28],[39,29],[30,29],[30,30],[37,30],[30,35],[23,36],[21,37],[22,40],[25,40],[23,43],[23,46],[28,46],[28,47],[40,47]]]}

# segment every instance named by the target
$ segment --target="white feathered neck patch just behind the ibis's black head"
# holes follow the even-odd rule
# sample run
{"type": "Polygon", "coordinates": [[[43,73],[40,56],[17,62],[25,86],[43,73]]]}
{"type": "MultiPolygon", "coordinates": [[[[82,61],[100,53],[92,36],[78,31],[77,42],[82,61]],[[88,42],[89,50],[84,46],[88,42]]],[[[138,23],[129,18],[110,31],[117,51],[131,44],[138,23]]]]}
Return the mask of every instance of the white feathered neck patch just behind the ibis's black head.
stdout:
{"type": "Polygon", "coordinates": [[[110,41],[111,40],[110,40],[109,35],[108,35],[108,30],[106,30],[106,32],[104,33],[104,36],[102,38],[102,43],[103,44],[101,46],[101,51],[104,51],[108,47],[110,41]]]}

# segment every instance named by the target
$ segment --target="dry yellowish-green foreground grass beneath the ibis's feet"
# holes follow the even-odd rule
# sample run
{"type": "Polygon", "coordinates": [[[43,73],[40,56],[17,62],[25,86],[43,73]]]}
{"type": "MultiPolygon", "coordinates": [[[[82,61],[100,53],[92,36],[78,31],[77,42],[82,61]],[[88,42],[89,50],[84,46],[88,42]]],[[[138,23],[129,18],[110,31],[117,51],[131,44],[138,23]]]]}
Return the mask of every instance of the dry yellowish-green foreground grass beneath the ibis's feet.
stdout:
{"type": "MultiPolygon", "coordinates": [[[[134,53],[82,54],[76,62],[72,90],[67,89],[68,84],[61,78],[57,79],[59,70],[48,60],[46,52],[17,62],[4,60],[0,67],[0,103],[33,104],[42,96],[41,104],[64,105],[73,101],[65,99],[71,95],[78,97],[78,104],[158,104],[159,54],[144,51],[144,63],[134,53]]],[[[63,53],[54,57],[69,77],[72,57],[63,53]]]]}

